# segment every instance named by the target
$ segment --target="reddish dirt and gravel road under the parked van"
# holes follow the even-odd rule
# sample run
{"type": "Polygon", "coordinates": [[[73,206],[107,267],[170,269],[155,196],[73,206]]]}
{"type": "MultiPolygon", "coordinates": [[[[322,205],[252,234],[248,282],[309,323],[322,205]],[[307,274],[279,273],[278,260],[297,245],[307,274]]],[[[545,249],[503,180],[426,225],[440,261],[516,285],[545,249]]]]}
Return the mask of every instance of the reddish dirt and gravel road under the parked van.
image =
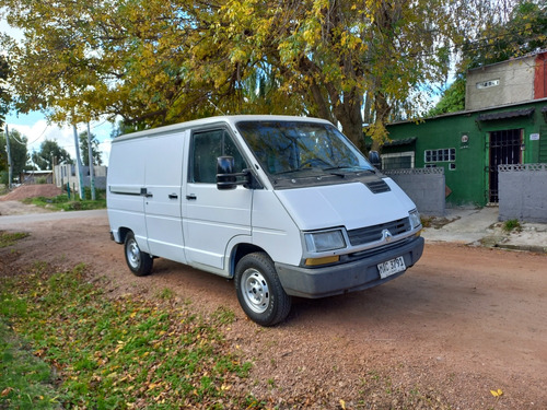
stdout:
{"type": "Polygon", "coordinates": [[[10,230],[31,236],[18,253],[0,249],[4,267],[83,261],[108,279],[110,294],[156,297],[171,289],[203,314],[232,309],[226,337],[255,363],[235,388],[280,408],[547,408],[545,255],[427,245],[403,277],[359,293],[296,300],[286,323],[260,328],[245,318],[225,279],[164,259],[152,276],[131,276],[105,216],[10,230]],[[497,389],[499,398],[490,393],[497,389]]]}

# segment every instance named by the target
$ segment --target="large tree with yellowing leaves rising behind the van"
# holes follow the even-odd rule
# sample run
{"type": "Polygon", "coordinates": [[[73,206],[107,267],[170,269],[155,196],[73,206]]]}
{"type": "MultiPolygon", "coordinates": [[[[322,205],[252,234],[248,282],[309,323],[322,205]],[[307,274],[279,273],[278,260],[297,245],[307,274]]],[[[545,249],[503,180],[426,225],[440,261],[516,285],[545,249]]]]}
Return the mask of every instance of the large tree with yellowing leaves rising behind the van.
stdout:
{"type": "Polygon", "coordinates": [[[312,115],[339,122],[358,144],[363,121],[377,143],[386,138],[396,102],[408,115],[427,104],[467,4],[4,2],[25,32],[23,44],[8,44],[21,112],[70,124],[121,116],[136,129],[221,113],[312,115]]]}

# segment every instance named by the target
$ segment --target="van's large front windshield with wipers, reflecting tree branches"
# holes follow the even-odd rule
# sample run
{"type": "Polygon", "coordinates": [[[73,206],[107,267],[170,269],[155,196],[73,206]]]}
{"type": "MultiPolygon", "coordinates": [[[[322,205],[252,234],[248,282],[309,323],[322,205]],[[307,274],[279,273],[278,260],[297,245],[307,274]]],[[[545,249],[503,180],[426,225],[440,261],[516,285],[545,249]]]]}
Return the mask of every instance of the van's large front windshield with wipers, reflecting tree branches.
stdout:
{"type": "MultiPolygon", "coordinates": [[[[373,166],[333,125],[241,121],[237,129],[263,168],[291,178],[301,172],[360,172],[373,166]]],[[[307,173],[304,173],[307,174],[307,173]]]]}

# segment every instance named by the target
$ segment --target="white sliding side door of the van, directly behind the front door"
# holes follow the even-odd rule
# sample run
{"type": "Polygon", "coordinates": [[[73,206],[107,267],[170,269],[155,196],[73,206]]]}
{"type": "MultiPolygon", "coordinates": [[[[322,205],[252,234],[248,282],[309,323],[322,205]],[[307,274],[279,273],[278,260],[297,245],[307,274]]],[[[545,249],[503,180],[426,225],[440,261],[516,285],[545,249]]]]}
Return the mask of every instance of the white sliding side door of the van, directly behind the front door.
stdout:
{"type": "Polygon", "coordinates": [[[185,132],[147,139],[144,212],[150,254],[186,262],[181,207],[185,132]]]}

